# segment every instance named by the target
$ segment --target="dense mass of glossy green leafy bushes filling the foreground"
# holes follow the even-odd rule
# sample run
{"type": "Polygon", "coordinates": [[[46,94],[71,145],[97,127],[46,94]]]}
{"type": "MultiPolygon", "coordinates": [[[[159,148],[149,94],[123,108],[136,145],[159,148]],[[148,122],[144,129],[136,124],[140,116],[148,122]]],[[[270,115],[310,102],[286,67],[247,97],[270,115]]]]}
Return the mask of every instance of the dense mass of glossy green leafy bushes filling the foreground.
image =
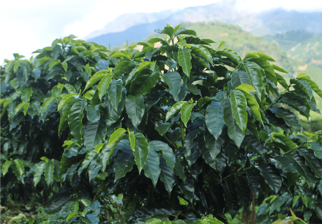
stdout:
{"type": "Polygon", "coordinates": [[[34,60],[6,61],[1,204],[50,198],[47,224],[98,223],[110,205],[123,223],[220,223],[239,209],[253,220],[255,198],[284,195],[287,211],[321,221],[322,132],[304,133],[283,108],[320,113],[315,82],[302,73],[288,84],[267,54],[214,50],[179,25],[156,32],[165,38],[139,42],[142,51],[71,35],[34,60]]]}

